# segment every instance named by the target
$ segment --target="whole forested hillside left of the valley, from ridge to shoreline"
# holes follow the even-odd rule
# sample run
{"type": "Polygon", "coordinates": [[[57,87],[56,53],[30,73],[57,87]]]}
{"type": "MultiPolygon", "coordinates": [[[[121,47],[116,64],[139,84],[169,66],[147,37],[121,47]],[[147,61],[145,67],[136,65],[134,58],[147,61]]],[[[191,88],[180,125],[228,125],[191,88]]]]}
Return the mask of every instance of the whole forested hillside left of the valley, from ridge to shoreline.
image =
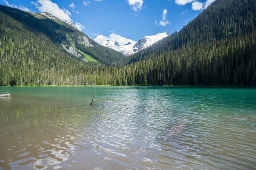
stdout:
{"type": "Polygon", "coordinates": [[[79,36],[87,37],[61,20],[0,5],[0,85],[97,84],[101,63],[115,65],[123,56],[87,37],[101,63],[86,63],[61,47],[80,45],[79,36]]]}

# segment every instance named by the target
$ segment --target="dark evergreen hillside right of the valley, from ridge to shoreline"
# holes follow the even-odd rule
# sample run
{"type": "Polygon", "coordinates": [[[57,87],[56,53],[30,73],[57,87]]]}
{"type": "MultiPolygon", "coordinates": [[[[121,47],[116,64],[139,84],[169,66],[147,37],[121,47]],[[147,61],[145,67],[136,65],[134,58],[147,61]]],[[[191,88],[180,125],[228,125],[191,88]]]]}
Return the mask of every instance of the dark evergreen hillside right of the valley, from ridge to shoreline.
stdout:
{"type": "Polygon", "coordinates": [[[138,84],[255,85],[255,40],[256,1],[216,0],[180,32],[131,56],[130,63],[148,63],[138,84]]]}

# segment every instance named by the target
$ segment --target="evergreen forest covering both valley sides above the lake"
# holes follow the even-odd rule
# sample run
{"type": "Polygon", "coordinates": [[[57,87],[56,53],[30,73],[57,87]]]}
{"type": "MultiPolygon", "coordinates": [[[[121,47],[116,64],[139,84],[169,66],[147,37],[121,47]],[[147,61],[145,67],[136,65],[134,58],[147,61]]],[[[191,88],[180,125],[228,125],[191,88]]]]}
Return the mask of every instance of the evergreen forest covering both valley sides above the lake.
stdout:
{"type": "Polygon", "coordinates": [[[0,6],[0,85],[256,85],[255,0],[216,0],[180,32],[128,58],[70,33],[53,38],[12,13],[30,15],[0,6]]]}

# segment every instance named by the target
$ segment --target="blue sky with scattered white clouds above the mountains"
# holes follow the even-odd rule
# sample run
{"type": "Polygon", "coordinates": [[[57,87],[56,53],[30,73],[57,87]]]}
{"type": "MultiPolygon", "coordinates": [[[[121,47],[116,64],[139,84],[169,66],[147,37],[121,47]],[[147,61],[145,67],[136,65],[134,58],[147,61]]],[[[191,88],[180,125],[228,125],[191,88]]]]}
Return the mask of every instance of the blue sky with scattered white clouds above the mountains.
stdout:
{"type": "Polygon", "coordinates": [[[172,34],[193,20],[214,0],[0,0],[31,12],[49,12],[74,22],[91,38],[139,40],[162,32],[172,34]]]}

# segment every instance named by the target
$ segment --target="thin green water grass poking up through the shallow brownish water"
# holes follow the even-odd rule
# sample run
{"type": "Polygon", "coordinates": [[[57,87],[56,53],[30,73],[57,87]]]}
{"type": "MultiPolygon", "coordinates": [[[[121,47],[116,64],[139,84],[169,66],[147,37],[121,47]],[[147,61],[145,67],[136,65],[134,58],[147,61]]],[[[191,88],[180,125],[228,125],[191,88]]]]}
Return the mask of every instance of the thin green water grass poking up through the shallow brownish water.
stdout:
{"type": "MultiPolygon", "coordinates": [[[[43,133],[45,129],[68,128],[87,121],[86,111],[73,107],[30,106],[13,108],[10,111],[1,110],[2,121],[13,121],[23,125],[29,131],[43,133]]],[[[6,130],[6,134],[9,130],[6,130]]],[[[10,131],[16,132],[14,128],[10,131]]]]}

